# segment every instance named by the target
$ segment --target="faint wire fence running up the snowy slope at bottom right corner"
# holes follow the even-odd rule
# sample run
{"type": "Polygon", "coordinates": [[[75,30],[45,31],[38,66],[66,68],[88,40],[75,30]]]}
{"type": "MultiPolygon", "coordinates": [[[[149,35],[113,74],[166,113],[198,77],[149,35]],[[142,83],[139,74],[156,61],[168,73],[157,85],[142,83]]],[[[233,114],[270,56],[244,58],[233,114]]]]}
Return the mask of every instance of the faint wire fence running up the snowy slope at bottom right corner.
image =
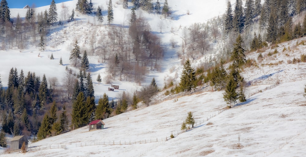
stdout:
{"type": "Polygon", "coordinates": [[[285,147],[285,145],[287,145],[289,142],[293,141],[295,138],[297,138],[300,134],[303,134],[306,132],[306,127],[301,129],[301,130],[298,130],[296,132],[296,134],[293,136],[293,137],[289,137],[289,138],[286,138],[286,140],[284,140],[282,142],[282,144],[279,144],[279,145],[273,145],[272,147],[270,147],[269,149],[266,149],[264,150],[263,152],[259,153],[259,155],[256,155],[256,157],[265,157],[265,156],[268,156],[278,150],[281,150],[282,148],[285,147]]]}

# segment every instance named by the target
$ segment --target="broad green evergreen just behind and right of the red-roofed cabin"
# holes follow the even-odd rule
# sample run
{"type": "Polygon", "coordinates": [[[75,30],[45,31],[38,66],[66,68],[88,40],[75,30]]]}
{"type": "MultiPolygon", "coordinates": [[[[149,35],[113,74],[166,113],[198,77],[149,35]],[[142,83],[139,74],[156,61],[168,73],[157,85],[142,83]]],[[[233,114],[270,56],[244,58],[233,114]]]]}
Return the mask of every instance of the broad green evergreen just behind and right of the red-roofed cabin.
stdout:
{"type": "Polygon", "coordinates": [[[107,118],[110,114],[110,109],[109,109],[109,101],[108,101],[108,96],[106,93],[104,93],[103,98],[99,99],[97,108],[95,110],[95,119],[103,120],[104,118],[107,118]]]}

